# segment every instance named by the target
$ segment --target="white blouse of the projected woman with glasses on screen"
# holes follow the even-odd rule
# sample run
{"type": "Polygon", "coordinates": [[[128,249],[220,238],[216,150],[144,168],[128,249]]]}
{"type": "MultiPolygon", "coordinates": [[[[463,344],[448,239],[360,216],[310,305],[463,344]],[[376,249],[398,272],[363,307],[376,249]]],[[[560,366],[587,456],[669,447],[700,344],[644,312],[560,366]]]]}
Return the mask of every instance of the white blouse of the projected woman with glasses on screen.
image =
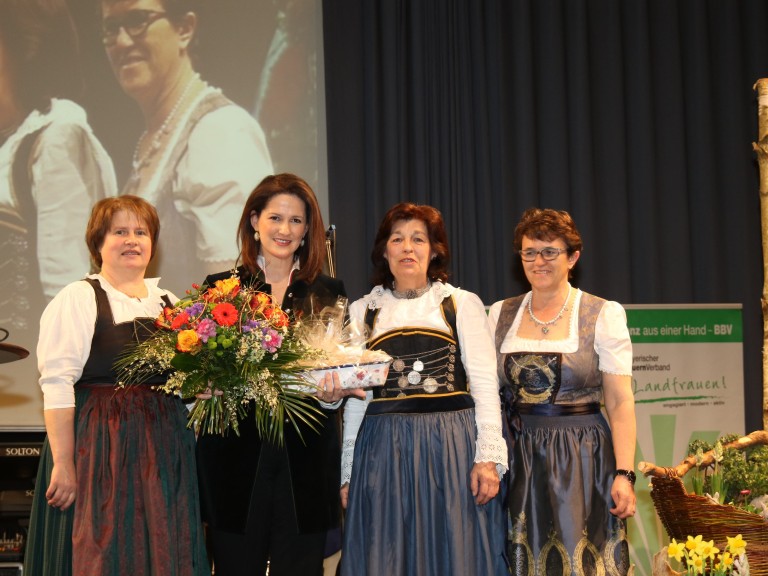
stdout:
{"type": "MultiPolygon", "coordinates": [[[[164,250],[181,245],[201,262],[234,264],[243,205],[273,168],[264,131],[235,104],[205,114],[182,142],[197,108],[219,92],[212,87],[200,92],[176,123],[146,186],[136,190],[129,181],[123,193],[137,194],[161,211],[158,244],[164,250]]],[[[154,262],[157,275],[174,290],[186,289],[200,273],[199,266],[177,269],[171,260],[172,253],[161,254],[154,262]]]]}

